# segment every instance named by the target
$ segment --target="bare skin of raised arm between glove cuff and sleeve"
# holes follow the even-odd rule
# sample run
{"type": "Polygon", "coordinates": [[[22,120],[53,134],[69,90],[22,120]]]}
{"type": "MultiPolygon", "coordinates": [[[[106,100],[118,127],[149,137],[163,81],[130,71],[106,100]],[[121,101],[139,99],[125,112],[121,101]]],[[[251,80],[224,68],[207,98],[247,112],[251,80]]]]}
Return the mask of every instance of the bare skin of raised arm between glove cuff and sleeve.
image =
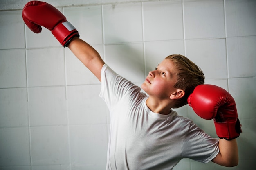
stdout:
{"type": "Polygon", "coordinates": [[[72,39],[68,48],[101,81],[101,68],[104,61],[99,53],[78,37],[72,39]]]}

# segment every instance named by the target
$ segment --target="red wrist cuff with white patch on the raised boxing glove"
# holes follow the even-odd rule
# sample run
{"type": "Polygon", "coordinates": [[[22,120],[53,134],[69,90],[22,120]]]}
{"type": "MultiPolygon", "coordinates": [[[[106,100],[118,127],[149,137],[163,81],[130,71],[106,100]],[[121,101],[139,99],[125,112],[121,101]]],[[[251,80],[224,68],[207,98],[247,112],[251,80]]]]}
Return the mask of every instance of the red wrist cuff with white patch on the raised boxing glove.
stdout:
{"type": "Polygon", "coordinates": [[[52,30],[52,34],[64,47],[67,46],[72,38],[79,37],[76,28],[68,21],[56,25],[52,30]]]}

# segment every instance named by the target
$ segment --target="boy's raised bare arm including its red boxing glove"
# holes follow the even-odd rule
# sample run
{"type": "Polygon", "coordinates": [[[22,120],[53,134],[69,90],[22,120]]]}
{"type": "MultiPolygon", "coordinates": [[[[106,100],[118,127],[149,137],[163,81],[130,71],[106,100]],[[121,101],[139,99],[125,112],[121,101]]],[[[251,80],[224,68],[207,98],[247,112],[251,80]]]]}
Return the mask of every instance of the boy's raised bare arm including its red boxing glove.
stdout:
{"type": "Polygon", "coordinates": [[[41,26],[52,34],[64,47],[69,47],[76,57],[101,81],[101,68],[104,65],[99,53],[85,41],[66,17],[52,5],[41,1],[30,1],[22,10],[25,24],[34,33],[40,33],[41,26]]]}

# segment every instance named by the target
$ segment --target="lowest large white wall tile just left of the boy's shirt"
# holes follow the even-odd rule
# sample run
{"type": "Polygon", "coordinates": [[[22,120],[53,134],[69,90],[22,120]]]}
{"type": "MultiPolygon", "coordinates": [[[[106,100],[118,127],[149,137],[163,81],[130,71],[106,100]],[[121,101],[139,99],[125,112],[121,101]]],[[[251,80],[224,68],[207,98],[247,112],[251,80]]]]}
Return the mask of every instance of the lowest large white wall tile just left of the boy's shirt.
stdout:
{"type": "Polygon", "coordinates": [[[106,124],[88,124],[70,127],[70,154],[72,169],[106,169],[106,124]]]}

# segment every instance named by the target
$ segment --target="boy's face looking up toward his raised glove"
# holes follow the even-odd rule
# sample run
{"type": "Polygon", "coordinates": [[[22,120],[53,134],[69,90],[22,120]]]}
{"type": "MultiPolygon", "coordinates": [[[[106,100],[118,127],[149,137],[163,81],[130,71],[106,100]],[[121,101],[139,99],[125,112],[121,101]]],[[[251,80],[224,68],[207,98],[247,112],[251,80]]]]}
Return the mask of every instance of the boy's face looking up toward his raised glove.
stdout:
{"type": "Polygon", "coordinates": [[[177,81],[175,66],[170,59],[164,59],[155,70],[150,71],[141,88],[149,95],[161,99],[170,98],[175,92],[177,81]]]}

